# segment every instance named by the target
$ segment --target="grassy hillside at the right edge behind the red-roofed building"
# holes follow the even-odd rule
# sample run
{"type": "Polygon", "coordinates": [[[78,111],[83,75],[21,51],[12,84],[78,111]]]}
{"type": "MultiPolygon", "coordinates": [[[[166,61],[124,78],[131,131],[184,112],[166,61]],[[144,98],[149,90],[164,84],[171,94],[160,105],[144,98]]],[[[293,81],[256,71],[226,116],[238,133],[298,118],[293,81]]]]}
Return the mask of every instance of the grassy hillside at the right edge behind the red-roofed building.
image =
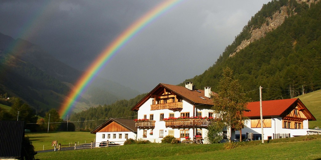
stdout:
{"type": "Polygon", "coordinates": [[[316,117],[317,121],[309,121],[309,128],[318,126],[321,128],[321,90],[300,95],[299,98],[309,111],[316,117]]]}

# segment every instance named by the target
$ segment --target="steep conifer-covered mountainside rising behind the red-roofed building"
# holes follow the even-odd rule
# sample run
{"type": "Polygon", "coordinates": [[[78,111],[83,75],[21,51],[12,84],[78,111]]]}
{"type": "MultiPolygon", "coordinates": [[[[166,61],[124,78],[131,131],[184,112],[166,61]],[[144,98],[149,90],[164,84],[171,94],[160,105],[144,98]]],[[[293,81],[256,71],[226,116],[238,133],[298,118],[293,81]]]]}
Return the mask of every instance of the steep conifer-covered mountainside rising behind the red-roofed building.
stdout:
{"type": "Polygon", "coordinates": [[[265,88],[264,100],[299,95],[302,85],[305,91],[320,89],[321,3],[300,4],[294,0],[280,0],[266,4],[263,9],[266,12],[261,10],[252,17],[212,67],[186,81],[194,82],[197,88],[212,86],[215,91],[221,69],[228,65],[234,70],[245,91],[255,90],[247,93],[252,100],[259,99],[256,89],[260,85],[265,88]],[[286,6],[281,6],[284,2],[286,6]],[[270,15],[279,12],[277,6],[290,8],[288,12],[291,16],[285,18],[278,28],[238,51],[237,47],[251,37],[252,30],[260,28],[257,24],[266,24],[265,20],[270,15]],[[264,20],[258,17],[264,17],[264,20]]]}

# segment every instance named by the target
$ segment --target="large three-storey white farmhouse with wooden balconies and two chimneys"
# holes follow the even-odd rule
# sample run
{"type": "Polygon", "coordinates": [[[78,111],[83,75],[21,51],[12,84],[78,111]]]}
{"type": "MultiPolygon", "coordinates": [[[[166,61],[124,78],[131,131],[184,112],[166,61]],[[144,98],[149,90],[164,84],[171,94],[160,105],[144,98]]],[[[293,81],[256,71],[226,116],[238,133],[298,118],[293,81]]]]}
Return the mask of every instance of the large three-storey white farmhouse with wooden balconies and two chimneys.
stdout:
{"type": "Polygon", "coordinates": [[[206,128],[211,123],[209,117],[213,118],[213,94],[211,87],[194,89],[192,82],[186,82],[185,87],[158,84],[132,108],[138,112],[137,138],[160,143],[167,135],[180,141],[197,136],[208,143],[206,128]]]}

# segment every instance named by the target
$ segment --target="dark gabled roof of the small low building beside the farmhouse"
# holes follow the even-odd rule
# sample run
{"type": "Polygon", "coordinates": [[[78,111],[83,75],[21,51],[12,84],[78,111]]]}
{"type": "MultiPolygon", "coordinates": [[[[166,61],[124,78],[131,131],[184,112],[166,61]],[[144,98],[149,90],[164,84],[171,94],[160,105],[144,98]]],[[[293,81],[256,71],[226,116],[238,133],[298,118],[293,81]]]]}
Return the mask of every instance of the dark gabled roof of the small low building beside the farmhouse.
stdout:
{"type": "Polygon", "coordinates": [[[127,128],[128,130],[132,132],[137,132],[137,128],[135,126],[135,122],[133,119],[113,119],[109,118],[106,122],[100,124],[100,126],[96,127],[94,130],[92,130],[90,133],[96,134],[98,131],[100,131],[102,128],[106,127],[108,124],[116,122],[119,125],[122,125],[123,127],[127,128]]]}

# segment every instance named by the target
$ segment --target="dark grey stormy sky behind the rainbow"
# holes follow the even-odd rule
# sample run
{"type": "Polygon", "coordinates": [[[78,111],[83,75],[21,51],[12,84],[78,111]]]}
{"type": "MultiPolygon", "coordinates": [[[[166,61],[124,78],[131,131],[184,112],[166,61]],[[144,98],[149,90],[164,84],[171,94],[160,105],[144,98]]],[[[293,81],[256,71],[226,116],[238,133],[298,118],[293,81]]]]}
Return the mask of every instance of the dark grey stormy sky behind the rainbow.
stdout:
{"type": "MultiPolygon", "coordinates": [[[[179,84],[200,75],[269,1],[183,1],[134,36],[99,76],[144,93],[159,83],[179,84]]],[[[85,70],[123,30],[161,2],[1,1],[0,32],[85,70]]]]}

